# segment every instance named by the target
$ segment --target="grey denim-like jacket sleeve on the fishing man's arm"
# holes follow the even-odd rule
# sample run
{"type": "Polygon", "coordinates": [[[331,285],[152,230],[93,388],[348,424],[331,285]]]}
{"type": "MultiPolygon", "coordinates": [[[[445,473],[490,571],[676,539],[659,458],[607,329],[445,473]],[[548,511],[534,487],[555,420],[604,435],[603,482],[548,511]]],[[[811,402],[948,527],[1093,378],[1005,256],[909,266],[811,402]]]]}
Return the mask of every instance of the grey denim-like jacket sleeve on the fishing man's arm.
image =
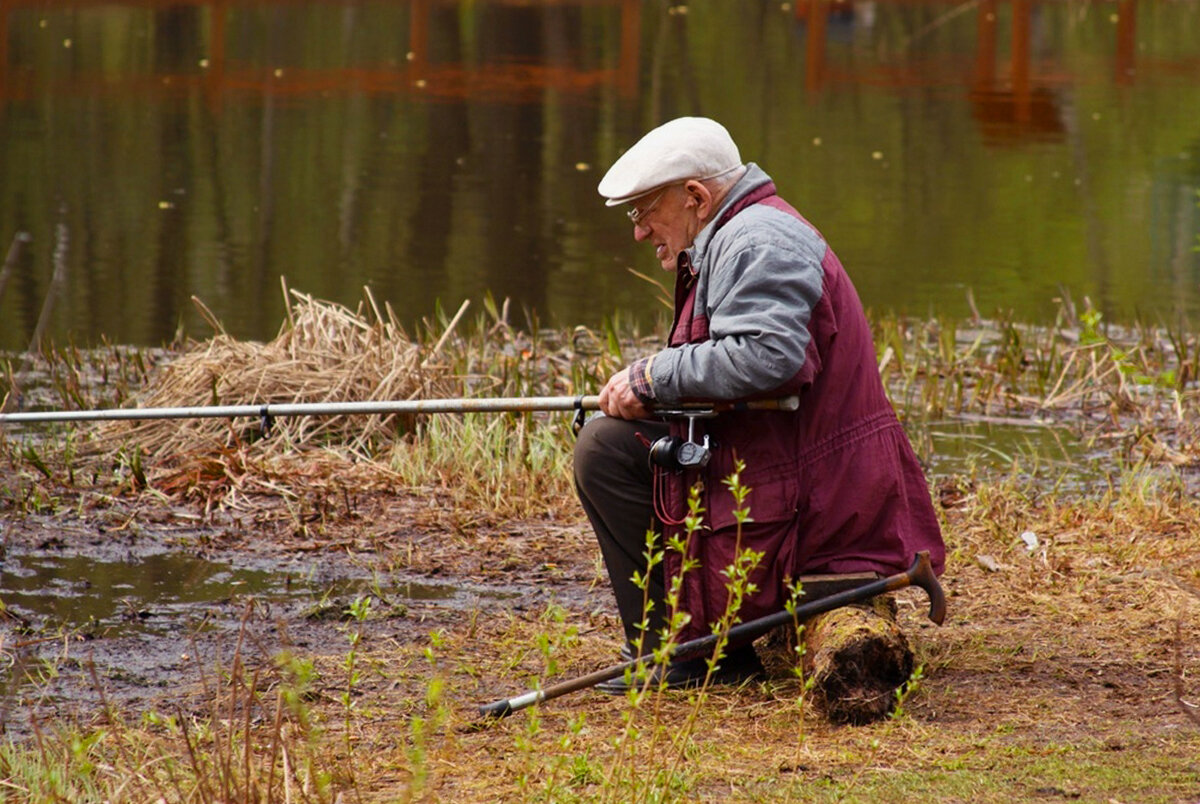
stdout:
{"type": "MultiPolygon", "coordinates": [[[[761,235],[761,233],[758,233],[761,235]]],[[[654,398],[733,400],[769,392],[796,376],[811,340],[808,324],[821,299],[824,242],[809,236],[713,242],[697,287],[709,341],[664,349],[650,364],[654,398]],[[707,288],[707,289],[706,289],[707,288]]]]}

